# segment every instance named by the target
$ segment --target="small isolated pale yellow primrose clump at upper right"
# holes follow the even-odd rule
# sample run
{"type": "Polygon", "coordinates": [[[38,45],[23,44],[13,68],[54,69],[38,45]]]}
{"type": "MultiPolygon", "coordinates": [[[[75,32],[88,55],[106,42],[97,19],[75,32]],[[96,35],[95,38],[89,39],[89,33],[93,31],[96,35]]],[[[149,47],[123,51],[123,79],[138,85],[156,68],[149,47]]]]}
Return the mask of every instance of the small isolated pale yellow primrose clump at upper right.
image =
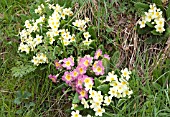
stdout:
{"type": "Polygon", "coordinates": [[[156,32],[163,33],[165,31],[165,19],[162,17],[162,11],[158,9],[155,4],[152,4],[149,7],[150,9],[148,12],[145,12],[142,20],[138,22],[140,28],[144,28],[147,22],[151,22],[151,24],[155,25],[156,32]]]}

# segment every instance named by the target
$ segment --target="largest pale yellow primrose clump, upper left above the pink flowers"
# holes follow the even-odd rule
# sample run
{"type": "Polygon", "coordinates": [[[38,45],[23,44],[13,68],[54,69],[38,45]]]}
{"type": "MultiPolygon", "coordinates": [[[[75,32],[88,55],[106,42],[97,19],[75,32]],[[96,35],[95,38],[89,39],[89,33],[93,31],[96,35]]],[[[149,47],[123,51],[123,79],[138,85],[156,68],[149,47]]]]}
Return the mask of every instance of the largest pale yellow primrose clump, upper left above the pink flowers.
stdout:
{"type": "MultiPolygon", "coordinates": [[[[63,8],[58,4],[54,5],[46,1],[35,9],[35,13],[38,18],[26,20],[24,29],[19,32],[21,39],[19,51],[26,52],[26,54],[37,54],[38,52],[48,55],[47,47],[50,46],[54,49],[55,46],[60,46],[63,49],[63,46],[77,42],[76,36],[80,31],[83,32],[81,35],[82,42],[80,43],[89,45],[92,42],[91,35],[86,31],[89,18],[86,17],[85,20],[79,19],[71,22],[70,17],[73,16],[71,8],[63,8]],[[72,24],[68,25],[70,22],[72,24]],[[72,30],[73,27],[74,31],[72,30]],[[42,47],[46,48],[43,52],[40,49],[42,47]]],[[[35,59],[33,57],[32,62],[37,66],[40,63],[47,62],[37,62],[37,59],[35,59]]]]}

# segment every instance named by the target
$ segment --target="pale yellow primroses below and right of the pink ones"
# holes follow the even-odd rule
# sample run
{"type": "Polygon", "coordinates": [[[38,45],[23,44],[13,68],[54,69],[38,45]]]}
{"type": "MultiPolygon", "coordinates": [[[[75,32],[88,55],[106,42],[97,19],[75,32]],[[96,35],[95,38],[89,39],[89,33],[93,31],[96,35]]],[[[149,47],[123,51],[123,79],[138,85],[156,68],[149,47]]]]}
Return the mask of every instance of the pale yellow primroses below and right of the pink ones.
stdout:
{"type": "MultiPolygon", "coordinates": [[[[127,68],[121,70],[121,76],[118,78],[118,75],[112,71],[109,72],[106,76],[106,79],[102,81],[103,84],[108,84],[110,86],[108,93],[102,94],[99,90],[95,90],[91,88],[88,92],[88,99],[82,98],[81,104],[85,109],[92,109],[94,111],[95,116],[103,116],[103,113],[106,111],[105,107],[109,106],[113,100],[113,98],[121,98],[121,97],[130,97],[133,93],[129,88],[128,80],[130,78],[131,71],[128,71],[127,68]]],[[[78,107],[78,104],[72,104],[72,117],[82,116],[78,110],[75,110],[78,107]]],[[[87,115],[87,117],[92,117],[91,115],[87,115]]]]}

